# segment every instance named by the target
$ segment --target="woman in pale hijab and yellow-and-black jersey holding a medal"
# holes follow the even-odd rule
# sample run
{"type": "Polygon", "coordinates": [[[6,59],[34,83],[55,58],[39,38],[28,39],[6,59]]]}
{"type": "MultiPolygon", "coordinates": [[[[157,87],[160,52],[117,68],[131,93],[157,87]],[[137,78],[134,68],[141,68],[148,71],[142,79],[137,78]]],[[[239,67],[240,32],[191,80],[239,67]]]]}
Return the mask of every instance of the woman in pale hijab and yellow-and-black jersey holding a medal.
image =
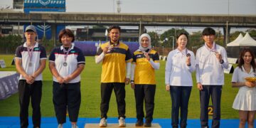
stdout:
{"type": "Polygon", "coordinates": [[[147,33],[139,37],[139,49],[133,54],[131,87],[136,100],[136,126],[151,127],[154,113],[156,80],[154,70],[158,70],[159,54],[151,49],[151,38],[147,33]],[[144,124],[143,102],[145,102],[146,121],[144,124]]]}

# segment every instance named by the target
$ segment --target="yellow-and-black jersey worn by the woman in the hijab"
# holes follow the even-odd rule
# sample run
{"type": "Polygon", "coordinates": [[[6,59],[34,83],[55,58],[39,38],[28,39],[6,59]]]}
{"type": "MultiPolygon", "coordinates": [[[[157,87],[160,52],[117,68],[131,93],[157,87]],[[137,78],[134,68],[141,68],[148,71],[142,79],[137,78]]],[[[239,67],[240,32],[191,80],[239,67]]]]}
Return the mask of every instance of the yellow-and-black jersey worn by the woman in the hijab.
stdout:
{"type": "MultiPolygon", "coordinates": [[[[149,57],[154,63],[159,63],[159,55],[156,50],[149,50],[149,57]]],[[[154,68],[152,68],[149,60],[146,59],[142,51],[135,51],[132,63],[135,63],[134,83],[156,85],[154,68]]]]}

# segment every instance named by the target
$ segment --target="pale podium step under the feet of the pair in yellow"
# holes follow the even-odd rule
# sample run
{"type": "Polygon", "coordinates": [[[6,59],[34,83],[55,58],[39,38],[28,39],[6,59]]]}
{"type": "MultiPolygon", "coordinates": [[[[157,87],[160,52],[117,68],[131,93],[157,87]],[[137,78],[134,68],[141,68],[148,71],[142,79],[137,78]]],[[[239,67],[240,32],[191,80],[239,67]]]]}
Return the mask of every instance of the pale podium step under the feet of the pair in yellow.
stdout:
{"type": "MultiPolygon", "coordinates": [[[[99,124],[85,124],[85,128],[95,128],[99,127],[99,124]]],[[[133,123],[127,123],[127,128],[135,127],[135,124],[133,123]]],[[[107,128],[119,128],[118,124],[107,124],[107,128]]],[[[153,123],[151,128],[161,128],[161,126],[158,123],[153,123]]]]}

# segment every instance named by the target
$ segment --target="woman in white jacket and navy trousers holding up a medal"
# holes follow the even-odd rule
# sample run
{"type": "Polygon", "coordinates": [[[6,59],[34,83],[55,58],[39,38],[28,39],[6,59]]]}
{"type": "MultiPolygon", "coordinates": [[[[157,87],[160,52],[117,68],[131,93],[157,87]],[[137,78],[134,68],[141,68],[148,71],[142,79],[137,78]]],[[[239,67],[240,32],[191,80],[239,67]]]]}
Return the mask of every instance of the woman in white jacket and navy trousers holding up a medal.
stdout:
{"type": "Polygon", "coordinates": [[[171,94],[171,126],[186,127],[188,117],[188,100],[191,95],[193,80],[191,73],[196,70],[195,55],[186,48],[187,33],[180,33],[176,42],[178,47],[172,50],[166,61],[165,84],[171,94]],[[181,121],[178,123],[178,113],[181,108],[181,121]]]}

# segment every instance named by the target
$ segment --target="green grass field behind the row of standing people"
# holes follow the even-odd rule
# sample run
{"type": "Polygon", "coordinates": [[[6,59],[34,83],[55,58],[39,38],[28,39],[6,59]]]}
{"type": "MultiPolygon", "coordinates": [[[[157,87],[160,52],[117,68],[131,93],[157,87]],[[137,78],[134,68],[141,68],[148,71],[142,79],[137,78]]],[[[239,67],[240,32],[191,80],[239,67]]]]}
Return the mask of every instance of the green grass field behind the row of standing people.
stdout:
{"type": "MultiPolygon", "coordinates": [[[[0,68],[3,70],[16,70],[14,65],[11,65],[11,60],[14,55],[0,55],[0,60],[4,59],[7,68],[0,68]]],[[[155,96],[155,109],[154,118],[170,118],[171,117],[171,97],[169,92],[166,92],[164,85],[164,69],[165,62],[161,61],[160,70],[156,71],[156,96],[155,96]]],[[[82,103],[80,106],[79,117],[100,117],[100,74],[101,64],[95,64],[94,57],[86,57],[85,69],[81,75],[81,92],[82,103]]],[[[225,74],[225,85],[223,86],[223,93],[221,99],[221,118],[223,119],[238,119],[238,111],[233,110],[233,100],[238,92],[238,88],[232,88],[230,81],[232,74],[225,74]]],[[[43,117],[55,117],[53,109],[53,94],[52,94],[52,75],[48,69],[43,71],[43,96],[41,101],[41,112],[43,117]]],[[[188,118],[199,119],[200,117],[200,102],[199,92],[196,88],[195,73],[193,73],[193,89],[188,105],[188,118]]],[[[130,85],[126,86],[126,116],[136,117],[134,92],[130,85]]],[[[6,100],[0,100],[0,116],[18,117],[18,93],[12,95],[6,100]]],[[[30,107],[31,115],[31,107],[30,107]]],[[[115,102],[114,92],[110,101],[110,110],[108,117],[117,117],[117,104],[115,102]]]]}

